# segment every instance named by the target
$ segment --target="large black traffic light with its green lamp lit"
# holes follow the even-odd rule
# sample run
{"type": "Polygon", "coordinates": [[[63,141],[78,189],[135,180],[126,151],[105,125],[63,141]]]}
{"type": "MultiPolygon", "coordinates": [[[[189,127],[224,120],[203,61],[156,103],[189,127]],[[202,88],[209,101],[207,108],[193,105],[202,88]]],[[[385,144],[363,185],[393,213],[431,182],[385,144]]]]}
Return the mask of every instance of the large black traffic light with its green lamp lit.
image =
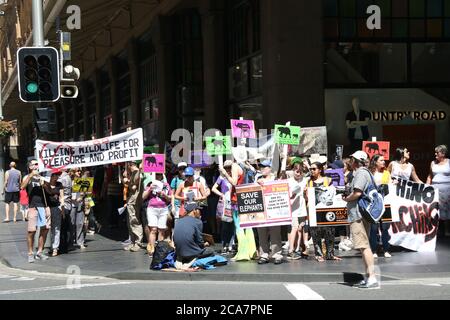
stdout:
{"type": "Polygon", "coordinates": [[[59,99],[59,61],[55,48],[20,48],[17,67],[19,97],[23,102],[54,102],[59,99]]]}

